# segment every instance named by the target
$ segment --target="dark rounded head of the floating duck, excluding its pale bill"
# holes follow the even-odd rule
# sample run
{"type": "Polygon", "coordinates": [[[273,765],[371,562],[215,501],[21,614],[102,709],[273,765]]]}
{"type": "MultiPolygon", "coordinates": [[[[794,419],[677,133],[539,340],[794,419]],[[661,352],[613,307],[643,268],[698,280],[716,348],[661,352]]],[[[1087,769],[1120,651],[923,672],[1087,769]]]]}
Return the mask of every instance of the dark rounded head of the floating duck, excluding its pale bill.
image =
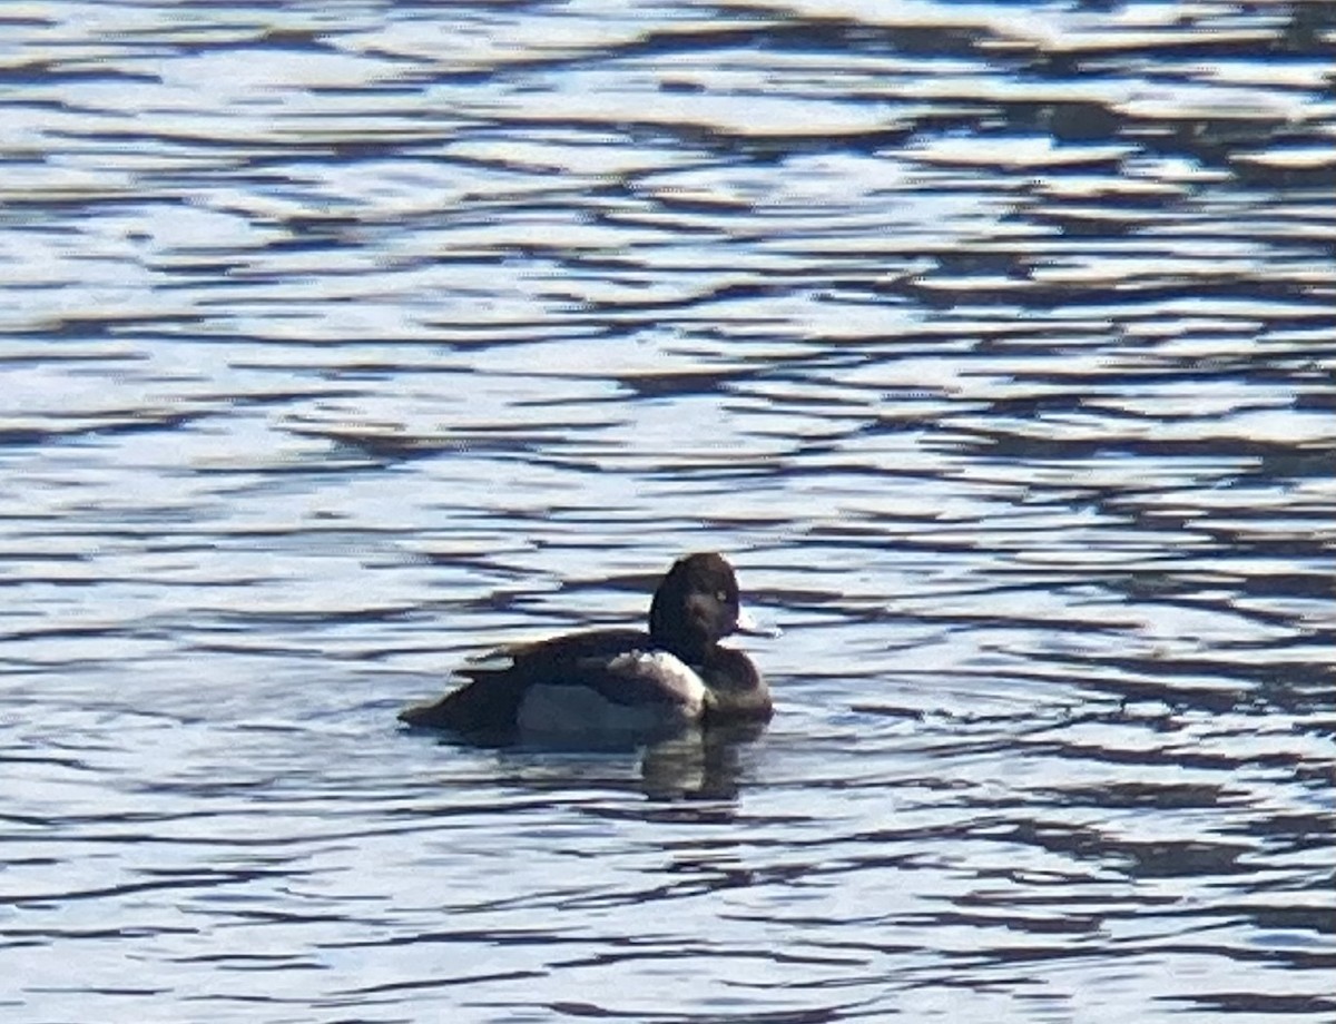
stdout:
{"type": "Polygon", "coordinates": [[[649,606],[649,638],[688,665],[699,665],[723,637],[737,631],[737,577],[717,554],[673,562],[649,606]]]}

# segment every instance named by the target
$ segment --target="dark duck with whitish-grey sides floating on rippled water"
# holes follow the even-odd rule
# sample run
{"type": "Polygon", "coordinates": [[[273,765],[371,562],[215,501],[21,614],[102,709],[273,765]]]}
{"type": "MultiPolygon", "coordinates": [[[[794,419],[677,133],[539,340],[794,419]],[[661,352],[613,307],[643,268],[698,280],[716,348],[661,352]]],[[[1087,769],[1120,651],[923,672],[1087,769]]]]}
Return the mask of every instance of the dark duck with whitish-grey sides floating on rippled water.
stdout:
{"type": "Polygon", "coordinates": [[[648,626],[497,648],[458,670],[461,686],[406,708],[399,721],[465,737],[569,738],[770,720],[774,702],[756,665],[719,641],[776,633],[741,610],[737,577],[723,555],[673,562],[649,603],[648,626]]]}

